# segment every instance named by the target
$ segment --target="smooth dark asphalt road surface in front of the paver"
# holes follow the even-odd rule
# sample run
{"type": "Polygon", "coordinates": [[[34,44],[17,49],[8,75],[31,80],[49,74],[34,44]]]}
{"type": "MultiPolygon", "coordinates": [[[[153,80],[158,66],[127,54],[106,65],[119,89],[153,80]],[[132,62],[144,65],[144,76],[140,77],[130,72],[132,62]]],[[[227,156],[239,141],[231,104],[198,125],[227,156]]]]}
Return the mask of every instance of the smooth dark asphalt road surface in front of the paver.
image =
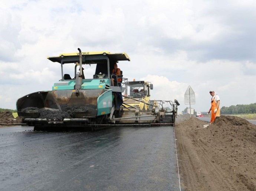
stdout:
{"type": "Polygon", "coordinates": [[[180,190],[173,127],[0,128],[0,190],[180,190]]]}

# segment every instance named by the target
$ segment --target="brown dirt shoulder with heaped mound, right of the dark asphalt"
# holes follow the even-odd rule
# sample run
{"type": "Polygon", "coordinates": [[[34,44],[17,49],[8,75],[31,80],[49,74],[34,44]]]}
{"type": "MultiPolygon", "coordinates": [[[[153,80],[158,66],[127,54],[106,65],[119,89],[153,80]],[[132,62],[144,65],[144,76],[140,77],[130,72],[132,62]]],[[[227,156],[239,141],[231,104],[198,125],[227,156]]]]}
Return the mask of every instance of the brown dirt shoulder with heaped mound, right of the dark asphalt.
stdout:
{"type": "Polygon", "coordinates": [[[179,116],[174,127],[185,190],[255,191],[256,125],[234,116],[205,125],[196,117],[179,116]]]}

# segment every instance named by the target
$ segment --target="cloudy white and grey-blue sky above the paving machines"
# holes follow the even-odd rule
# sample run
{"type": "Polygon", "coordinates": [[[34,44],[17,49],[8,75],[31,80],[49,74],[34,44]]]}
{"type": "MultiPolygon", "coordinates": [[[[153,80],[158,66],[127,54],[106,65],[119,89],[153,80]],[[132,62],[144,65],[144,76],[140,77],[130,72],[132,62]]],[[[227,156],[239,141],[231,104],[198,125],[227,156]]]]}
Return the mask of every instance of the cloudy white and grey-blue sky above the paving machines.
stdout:
{"type": "Polygon", "coordinates": [[[60,53],[126,52],[124,77],[154,85],[151,98],[184,104],[191,86],[196,111],[256,103],[255,0],[1,0],[0,108],[51,90],[60,53]]]}

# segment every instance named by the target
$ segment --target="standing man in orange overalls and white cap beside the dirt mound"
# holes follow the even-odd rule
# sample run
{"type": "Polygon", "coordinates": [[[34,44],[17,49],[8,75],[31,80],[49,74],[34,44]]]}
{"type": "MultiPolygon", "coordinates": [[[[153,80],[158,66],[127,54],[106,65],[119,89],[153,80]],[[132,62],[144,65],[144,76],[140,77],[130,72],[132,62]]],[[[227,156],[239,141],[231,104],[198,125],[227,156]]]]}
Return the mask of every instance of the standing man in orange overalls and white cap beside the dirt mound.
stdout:
{"type": "Polygon", "coordinates": [[[214,122],[216,117],[220,116],[220,97],[219,95],[215,95],[215,92],[213,90],[210,90],[210,95],[212,96],[211,98],[211,108],[209,109],[209,111],[207,112],[210,113],[211,112],[211,122],[214,122]]]}

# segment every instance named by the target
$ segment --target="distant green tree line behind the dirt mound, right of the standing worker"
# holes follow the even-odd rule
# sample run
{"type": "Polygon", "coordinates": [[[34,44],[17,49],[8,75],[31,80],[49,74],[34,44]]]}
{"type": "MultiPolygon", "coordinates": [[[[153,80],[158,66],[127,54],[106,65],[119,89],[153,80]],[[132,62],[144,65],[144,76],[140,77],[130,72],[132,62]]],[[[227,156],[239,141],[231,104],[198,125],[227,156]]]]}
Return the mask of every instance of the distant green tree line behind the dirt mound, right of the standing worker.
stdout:
{"type": "Polygon", "coordinates": [[[222,114],[241,114],[241,113],[256,113],[256,103],[251,103],[249,105],[232,105],[229,107],[223,106],[220,109],[222,114]]]}

